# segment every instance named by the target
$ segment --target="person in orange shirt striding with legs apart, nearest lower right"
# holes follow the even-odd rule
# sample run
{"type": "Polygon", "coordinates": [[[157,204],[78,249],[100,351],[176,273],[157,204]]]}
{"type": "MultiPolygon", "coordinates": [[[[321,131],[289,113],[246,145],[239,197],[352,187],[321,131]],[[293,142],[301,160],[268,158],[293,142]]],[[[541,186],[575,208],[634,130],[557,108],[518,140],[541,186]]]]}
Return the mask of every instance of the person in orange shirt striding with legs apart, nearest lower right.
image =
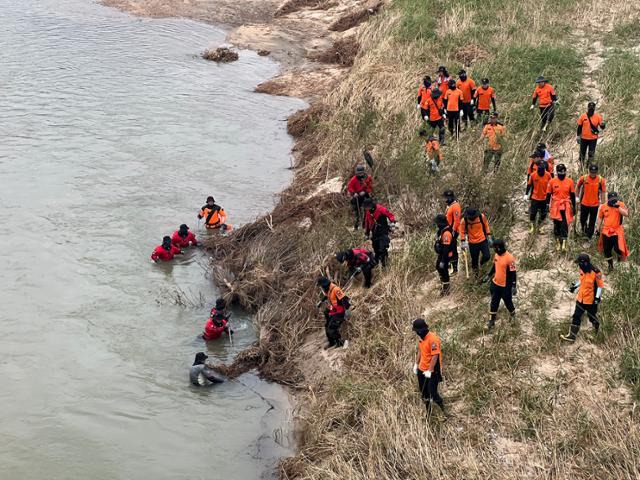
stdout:
{"type": "Polygon", "coordinates": [[[560,335],[560,338],[567,342],[575,342],[578,332],[580,331],[582,316],[585,312],[591,322],[591,325],[593,325],[596,335],[600,329],[600,322],[598,321],[598,305],[600,304],[602,289],[604,288],[602,272],[600,272],[598,267],[591,264],[591,259],[586,253],[578,255],[576,263],[580,270],[580,280],[569,287],[569,291],[571,293],[578,290],[576,309],[573,311],[569,333],[566,335],[560,335]]]}

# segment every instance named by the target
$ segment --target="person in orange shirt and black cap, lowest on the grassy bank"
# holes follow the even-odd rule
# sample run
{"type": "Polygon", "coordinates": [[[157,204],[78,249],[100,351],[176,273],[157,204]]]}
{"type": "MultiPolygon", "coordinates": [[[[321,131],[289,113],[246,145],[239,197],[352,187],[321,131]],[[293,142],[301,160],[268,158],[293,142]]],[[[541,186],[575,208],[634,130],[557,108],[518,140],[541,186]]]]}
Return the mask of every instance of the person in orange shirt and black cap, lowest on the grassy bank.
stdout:
{"type": "Polygon", "coordinates": [[[446,415],[444,402],[438,393],[438,384],[442,381],[442,347],[440,338],[429,331],[429,325],[423,318],[413,321],[412,330],[420,338],[413,374],[418,377],[418,390],[427,407],[427,417],[431,415],[433,403],[446,415]]]}

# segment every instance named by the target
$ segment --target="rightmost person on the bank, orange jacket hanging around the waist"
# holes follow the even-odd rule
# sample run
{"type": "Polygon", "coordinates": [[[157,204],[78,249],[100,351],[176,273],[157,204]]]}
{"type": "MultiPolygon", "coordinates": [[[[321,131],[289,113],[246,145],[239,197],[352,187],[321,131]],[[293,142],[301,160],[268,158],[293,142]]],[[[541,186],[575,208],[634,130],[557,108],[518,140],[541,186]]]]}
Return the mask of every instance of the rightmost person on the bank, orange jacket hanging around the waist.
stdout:
{"type": "Polygon", "coordinates": [[[618,255],[618,261],[622,262],[629,256],[629,247],[624,238],[623,217],[629,216],[629,210],[624,202],[618,199],[616,192],[609,192],[607,204],[600,207],[598,212],[598,250],[604,252],[604,257],[609,265],[609,272],[613,270],[613,252],[618,255]]]}

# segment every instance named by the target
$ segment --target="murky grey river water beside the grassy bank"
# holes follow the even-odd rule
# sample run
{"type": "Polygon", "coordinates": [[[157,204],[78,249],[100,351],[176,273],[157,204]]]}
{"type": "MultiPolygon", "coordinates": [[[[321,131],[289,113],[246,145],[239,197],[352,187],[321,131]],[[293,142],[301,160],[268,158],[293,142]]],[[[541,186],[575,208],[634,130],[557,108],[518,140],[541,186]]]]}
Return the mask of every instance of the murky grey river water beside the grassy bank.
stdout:
{"type": "Polygon", "coordinates": [[[252,93],[278,68],[254,53],[194,56],[224,39],[207,25],[91,0],[3,0],[0,18],[0,479],[268,475],[286,394],[187,377],[197,351],[250,344],[250,319],[205,346],[205,254],[149,255],[209,194],[235,225],[268,210],[302,102],[252,93]]]}

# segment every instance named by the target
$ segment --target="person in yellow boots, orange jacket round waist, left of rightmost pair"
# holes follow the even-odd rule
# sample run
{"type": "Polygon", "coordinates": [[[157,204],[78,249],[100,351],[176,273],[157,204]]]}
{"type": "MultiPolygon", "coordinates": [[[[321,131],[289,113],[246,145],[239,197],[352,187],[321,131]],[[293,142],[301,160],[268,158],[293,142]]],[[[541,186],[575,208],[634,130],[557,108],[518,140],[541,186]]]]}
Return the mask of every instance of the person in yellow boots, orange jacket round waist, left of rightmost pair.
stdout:
{"type": "Polygon", "coordinates": [[[556,167],[556,177],[547,185],[549,216],[553,220],[556,251],[567,251],[569,225],[576,211],[576,190],[573,180],[567,178],[567,167],[563,163],[556,167]]]}

